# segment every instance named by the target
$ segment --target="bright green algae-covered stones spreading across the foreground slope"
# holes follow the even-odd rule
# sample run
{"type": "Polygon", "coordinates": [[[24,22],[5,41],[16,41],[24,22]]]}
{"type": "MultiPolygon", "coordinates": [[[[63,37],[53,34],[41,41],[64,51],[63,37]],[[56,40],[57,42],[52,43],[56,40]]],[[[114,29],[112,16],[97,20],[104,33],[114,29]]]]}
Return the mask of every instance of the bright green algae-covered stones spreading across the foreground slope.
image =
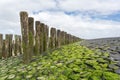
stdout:
{"type": "Polygon", "coordinates": [[[66,45],[34,58],[27,65],[17,58],[0,61],[0,80],[119,80],[112,72],[118,70],[116,62],[84,46],[66,45]]]}

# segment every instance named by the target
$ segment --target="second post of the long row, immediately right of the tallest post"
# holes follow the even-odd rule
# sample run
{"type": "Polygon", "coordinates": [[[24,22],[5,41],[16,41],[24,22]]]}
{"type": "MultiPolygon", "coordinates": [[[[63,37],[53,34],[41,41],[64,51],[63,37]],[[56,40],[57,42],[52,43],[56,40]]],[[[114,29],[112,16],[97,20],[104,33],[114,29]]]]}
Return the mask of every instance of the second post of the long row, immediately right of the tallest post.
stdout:
{"type": "Polygon", "coordinates": [[[28,18],[30,58],[34,55],[34,18],[28,18]]]}

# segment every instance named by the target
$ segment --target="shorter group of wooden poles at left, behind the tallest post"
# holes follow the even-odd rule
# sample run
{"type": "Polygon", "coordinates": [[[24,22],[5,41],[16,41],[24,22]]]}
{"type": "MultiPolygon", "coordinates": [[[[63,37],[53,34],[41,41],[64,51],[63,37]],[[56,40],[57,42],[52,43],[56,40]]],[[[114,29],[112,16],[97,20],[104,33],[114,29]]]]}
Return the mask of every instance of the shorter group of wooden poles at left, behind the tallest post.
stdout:
{"type": "Polygon", "coordinates": [[[3,34],[0,34],[0,59],[9,58],[22,54],[21,36],[6,34],[3,39],[3,34]]]}

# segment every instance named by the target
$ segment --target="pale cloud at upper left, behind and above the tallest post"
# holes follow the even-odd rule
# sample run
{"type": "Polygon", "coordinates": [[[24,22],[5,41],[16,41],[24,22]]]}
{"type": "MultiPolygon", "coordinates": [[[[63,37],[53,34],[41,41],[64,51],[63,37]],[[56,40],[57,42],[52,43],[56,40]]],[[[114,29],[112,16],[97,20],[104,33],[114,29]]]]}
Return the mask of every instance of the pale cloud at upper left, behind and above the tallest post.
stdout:
{"type": "Polygon", "coordinates": [[[1,0],[0,33],[20,34],[20,11],[32,13],[33,11],[54,8],[55,5],[54,0],[1,0]]]}

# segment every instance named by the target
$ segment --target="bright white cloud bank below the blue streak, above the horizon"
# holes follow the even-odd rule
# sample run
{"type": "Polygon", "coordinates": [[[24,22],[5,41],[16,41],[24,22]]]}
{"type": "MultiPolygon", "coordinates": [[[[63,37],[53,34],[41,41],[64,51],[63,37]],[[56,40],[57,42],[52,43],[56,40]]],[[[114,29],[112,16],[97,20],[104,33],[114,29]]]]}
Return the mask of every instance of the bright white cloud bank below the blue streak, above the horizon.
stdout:
{"type": "Polygon", "coordinates": [[[119,36],[120,23],[107,20],[92,20],[80,15],[70,16],[64,12],[40,12],[34,15],[49,26],[65,30],[82,38],[119,36]]]}

